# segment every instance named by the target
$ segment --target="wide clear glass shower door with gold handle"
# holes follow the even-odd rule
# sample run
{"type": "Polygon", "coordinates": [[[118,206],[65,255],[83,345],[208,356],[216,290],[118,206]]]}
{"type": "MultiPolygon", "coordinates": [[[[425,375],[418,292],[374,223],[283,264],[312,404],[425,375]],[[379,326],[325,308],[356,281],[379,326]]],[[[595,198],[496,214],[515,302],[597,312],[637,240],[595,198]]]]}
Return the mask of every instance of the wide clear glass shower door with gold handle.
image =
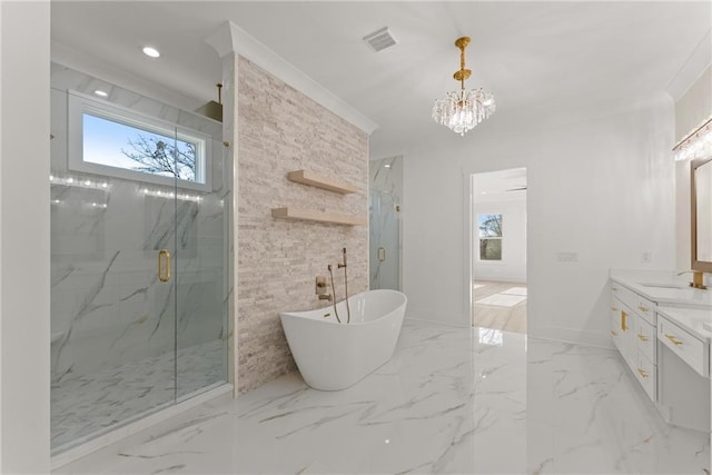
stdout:
{"type": "Polygon", "coordinates": [[[67,166],[52,90],[51,446],[62,452],[176,398],[175,186],[67,166]]]}

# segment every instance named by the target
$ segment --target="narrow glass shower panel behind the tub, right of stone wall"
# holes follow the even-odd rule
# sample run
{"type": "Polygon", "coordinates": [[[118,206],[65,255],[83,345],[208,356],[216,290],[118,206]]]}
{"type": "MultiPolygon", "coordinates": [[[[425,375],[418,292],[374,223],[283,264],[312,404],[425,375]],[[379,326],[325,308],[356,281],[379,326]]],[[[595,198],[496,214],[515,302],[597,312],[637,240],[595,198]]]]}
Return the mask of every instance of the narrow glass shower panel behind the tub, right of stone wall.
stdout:
{"type": "Polygon", "coordinates": [[[370,161],[369,284],[399,290],[403,157],[370,161]]]}

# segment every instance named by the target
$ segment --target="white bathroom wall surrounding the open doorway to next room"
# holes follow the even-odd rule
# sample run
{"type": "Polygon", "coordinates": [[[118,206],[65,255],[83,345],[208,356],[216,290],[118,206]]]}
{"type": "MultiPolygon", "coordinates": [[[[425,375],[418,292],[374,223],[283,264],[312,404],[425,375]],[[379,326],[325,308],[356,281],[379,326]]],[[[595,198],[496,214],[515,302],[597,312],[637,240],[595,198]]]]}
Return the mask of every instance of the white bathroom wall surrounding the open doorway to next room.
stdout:
{"type": "Polygon", "coordinates": [[[464,175],[525,166],[530,335],[610,346],[609,269],[674,264],[673,127],[665,95],[626,113],[507,136],[475,129],[453,133],[447,149],[407,154],[408,317],[469,324],[464,175]],[[561,251],[578,260],[560,263],[561,251]]]}

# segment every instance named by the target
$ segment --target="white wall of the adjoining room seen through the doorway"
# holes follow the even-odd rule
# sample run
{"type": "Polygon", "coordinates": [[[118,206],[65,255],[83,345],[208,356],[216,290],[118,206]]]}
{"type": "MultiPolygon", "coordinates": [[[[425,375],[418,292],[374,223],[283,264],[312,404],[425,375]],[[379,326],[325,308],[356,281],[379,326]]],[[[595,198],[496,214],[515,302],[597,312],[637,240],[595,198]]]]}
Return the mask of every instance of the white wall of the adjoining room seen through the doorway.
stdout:
{"type": "Polygon", "coordinates": [[[474,192],[473,227],[475,280],[526,281],[526,199],[481,201],[474,192]],[[477,216],[502,215],[502,260],[481,260],[477,216]]]}

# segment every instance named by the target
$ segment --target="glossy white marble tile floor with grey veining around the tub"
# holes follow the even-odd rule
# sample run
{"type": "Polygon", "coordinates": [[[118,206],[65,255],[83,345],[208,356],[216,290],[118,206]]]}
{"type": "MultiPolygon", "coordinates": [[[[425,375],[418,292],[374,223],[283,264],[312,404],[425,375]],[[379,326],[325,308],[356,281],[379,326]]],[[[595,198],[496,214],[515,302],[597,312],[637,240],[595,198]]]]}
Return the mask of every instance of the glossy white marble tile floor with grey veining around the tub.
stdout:
{"type": "Polygon", "coordinates": [[[386,365],[318,392],[293,373],[91,454],[77,474],[702,474],[610,349],[406,320],[386,365]]]}

